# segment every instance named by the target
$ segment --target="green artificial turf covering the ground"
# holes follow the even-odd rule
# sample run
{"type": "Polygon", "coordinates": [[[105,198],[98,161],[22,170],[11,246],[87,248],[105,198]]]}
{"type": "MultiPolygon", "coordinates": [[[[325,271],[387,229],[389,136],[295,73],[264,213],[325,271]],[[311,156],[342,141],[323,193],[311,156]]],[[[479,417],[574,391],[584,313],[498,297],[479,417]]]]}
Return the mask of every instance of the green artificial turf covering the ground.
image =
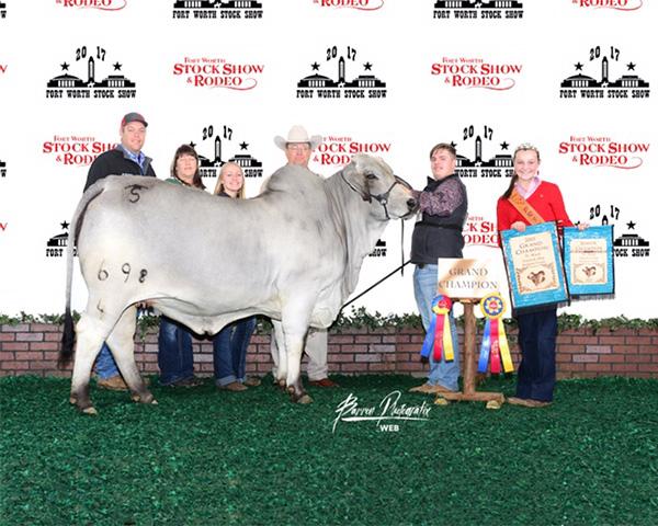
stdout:
{"type": "MultiPolygon", "coordinates": [[[[158,405],[92,387],[94,418],[68,380],[2,378],[0,524],[658,524],[657,380],[566,380],[549,408],[492,411],[432,404],[410,377],[337,379],[309,405],[269,382],[154,387],[158,405]],[[348,395],[395,390],[429,420],[332,432],[348,395]]],[[[480,389],[511,395],[513,379],[480,389]]]]}

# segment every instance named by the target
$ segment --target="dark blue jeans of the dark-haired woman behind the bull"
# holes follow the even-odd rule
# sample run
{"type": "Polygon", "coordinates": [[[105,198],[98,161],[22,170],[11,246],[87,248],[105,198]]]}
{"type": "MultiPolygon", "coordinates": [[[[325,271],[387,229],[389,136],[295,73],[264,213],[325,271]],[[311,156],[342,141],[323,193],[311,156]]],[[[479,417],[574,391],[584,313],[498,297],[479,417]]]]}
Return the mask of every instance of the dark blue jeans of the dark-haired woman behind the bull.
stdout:
{"type": "Polygon", "coordinates": [[[192,333],[184,325],[166,316],[160,317],[158,366],[162,386],[169,386],[194,376],[192,333]]]}

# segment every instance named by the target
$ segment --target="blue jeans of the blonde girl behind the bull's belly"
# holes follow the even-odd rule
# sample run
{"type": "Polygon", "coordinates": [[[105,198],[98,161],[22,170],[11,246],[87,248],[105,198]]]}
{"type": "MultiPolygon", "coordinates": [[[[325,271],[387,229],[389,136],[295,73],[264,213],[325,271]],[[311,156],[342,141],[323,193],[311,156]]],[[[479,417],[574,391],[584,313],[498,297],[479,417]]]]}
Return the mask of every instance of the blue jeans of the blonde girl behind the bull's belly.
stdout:
{"type": "Polygon", "coordinates": [[[213,339],[215,384],[227,386],[245,381],[247,347],[256,329],[256,317],[235,321],[222,329],[213,339]]]}

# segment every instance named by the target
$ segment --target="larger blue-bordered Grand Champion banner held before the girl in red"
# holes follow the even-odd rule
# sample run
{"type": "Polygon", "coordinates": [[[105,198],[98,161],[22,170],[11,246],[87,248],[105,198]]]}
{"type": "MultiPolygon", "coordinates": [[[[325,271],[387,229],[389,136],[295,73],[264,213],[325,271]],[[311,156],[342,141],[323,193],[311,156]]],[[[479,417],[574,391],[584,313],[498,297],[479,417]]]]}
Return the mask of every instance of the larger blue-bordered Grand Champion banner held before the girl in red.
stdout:
{"type": "Polygon", "coordinates": [[[554,222],[532,225],[523,232],[503,230],[500,235],[514,309],[569,299],[554,222]]]}

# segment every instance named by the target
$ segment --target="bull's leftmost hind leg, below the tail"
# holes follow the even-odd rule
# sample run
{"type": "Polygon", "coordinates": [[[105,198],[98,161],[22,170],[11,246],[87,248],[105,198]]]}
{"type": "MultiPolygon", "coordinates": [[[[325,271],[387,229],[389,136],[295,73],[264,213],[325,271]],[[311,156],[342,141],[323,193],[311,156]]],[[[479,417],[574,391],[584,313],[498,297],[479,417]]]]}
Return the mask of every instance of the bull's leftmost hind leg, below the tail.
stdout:
{"type": "Polygon", "coordinates": [[[83,312],[76,325],[77,340],[71,395],[69,401],[87,414],[97,414],[89,398],[89,379],[93,361],[105,341],[109,329],[101,320],[83,312]]]}

